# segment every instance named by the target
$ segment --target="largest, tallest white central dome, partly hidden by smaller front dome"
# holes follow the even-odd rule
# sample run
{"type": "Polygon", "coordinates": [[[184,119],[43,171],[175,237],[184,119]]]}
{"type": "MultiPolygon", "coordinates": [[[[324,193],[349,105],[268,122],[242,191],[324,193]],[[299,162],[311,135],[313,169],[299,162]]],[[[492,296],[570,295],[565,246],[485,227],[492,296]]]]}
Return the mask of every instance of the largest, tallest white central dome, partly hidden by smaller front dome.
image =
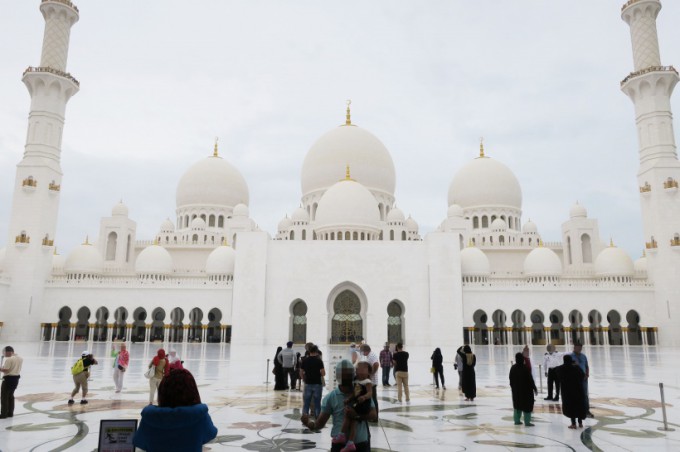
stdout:
{"type": "Polygon", "coordinates": [[[349,165],[352,176],[372,192],[394,196],[392,157],[372,133],[355,125],[343,125],[316,140],[302,164],[302,196],[327,190],[349,165]]]}

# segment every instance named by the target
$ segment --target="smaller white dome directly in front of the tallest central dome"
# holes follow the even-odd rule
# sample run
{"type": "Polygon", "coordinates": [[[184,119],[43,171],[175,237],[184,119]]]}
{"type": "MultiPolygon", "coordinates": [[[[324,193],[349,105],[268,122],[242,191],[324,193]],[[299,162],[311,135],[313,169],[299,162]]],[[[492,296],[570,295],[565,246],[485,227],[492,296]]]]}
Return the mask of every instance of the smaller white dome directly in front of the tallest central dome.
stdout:
{"type": "Polygon", "coordinates": [[[375,196],[359,182],[345,179],[326,190],[316,210],[317,227],[377,228],[380,211],[375,196]]]}

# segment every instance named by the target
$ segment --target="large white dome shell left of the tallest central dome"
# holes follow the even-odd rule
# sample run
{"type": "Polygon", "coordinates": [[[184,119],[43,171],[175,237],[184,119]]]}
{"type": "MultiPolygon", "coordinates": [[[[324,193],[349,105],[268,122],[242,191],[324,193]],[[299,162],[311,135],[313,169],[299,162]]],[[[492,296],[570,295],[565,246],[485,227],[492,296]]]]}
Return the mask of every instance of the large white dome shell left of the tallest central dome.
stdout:
{"type": "Polygon", "coordinates": [[[177,184],[177,208],[234,207],[248,204],[248,185],[241,173],[222,157],[211,156],[192,165],[177,184]]]}

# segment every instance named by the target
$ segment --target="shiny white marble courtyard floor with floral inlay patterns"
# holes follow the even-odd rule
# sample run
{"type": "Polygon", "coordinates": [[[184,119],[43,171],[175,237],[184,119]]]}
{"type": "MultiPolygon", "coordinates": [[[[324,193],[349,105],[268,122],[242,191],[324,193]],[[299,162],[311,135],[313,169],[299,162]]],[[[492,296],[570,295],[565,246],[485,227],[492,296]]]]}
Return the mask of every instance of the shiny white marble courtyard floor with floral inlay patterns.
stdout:
{"type": "MultiPolygon", "coordinates": [[[[148,402],[142,375],[160,344],[130,346],[131,365],[125,389],[116,394],[112,381],[110,344],[18,343],[24,358],[16,392],[14,417],[0,420],[0,450],[93,451],[102,419],[139,418],[148,402]],[[73,387],[70,367],[80,353],[95,353],[89,404],[66,401],[73,387]]],[[[167,346],[165,347],[167,350],[167,346]]],[[[273,391],[267,380],[267,358],[275,347],[229,344],[177,344],[185,367],[195,375],[203,402],[219,432],[204,450],[296,451],[328,450],[329,428],[310,432],[299,422],[302,395],[273,391]]],[[[346,347],[321,347],[326,366],[346,347]]],[[[394,388],[379,388],[380,422],[371,428],[377,451],[463,450],[680,450],[680,349],[663,347],[585,347],[591,363],[590,396],[595,419],[582,430],[567,428],[559,403],[543,401],[534,409],[535,427],[515,426],[508,387],[512,356],[519,347],[478,346],[477,399],[464,401],[456,389],[454,347],[443,348],[448,390],[431,385],[428,347],[407,348],[411,402],[399,404],[394,388]],[[675,431],[661,431],[659,382],[666,389],[668,420],[675,431]]],[[[543,347],[534,347],[535,364],[543,347]]],[[[271,377],[271,374],[269,374],[271,377]]],[[[545,391],[546,381],[543,379],[545,391]]],[[[324,392],[325,394],[325,392],[324,392]]]]}

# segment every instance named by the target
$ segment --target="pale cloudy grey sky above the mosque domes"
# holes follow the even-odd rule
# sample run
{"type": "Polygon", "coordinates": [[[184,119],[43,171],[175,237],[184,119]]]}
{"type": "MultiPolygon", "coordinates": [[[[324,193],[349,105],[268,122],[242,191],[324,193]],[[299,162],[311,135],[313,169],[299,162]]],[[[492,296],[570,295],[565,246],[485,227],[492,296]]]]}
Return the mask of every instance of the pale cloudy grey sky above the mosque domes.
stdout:
{"type": "MultiPolygon", "coordinates": [[[[40,60],[39,3],[1,3],[0,246],[30,104],[21,74],[40,60]]],[[[353,122],[390,150],[397,205],[421,233],[446,216],[449,183],[483,136],[545,240],[560,240],[578,200],[635,259],[644,237],[633,106],[619,89],[632,70],[622,3],[76,2],[68,70],[81,90],[66,110],[57,246],[96,236],[119,199],[150,239],[215,136],[248,182],[251,216],[274,234],[299,204],[307,150],[352,99],[353,122]]],[[[680,2],[666,0],[664,64],[680,65],[679,20],[680,2]]]]}

